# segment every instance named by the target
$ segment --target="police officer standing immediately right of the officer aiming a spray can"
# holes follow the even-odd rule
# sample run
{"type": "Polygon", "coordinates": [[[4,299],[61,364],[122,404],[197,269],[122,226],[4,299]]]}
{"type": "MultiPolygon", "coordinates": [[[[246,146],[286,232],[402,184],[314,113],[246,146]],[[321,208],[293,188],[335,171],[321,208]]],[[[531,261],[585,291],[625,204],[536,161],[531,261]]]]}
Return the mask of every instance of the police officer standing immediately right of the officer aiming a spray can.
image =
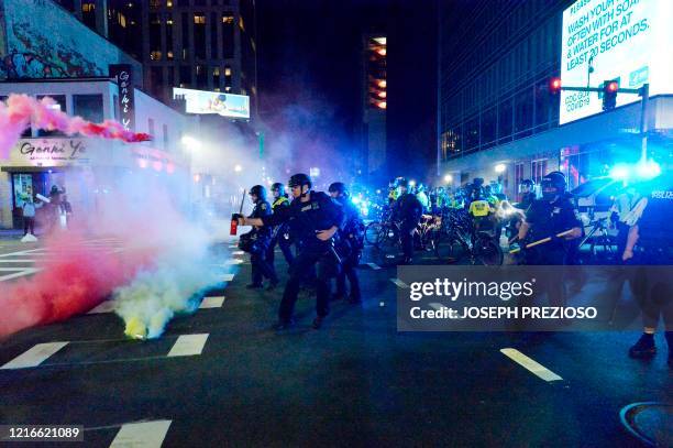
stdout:
{"type": "Polygon", "coordinates": [[[330,185],[330,196],[341,204],[344,212],[344,225],[339,230],[339,249],[342,254],[341,272],[336,276],[336,297],[345,297],[345,280],[351,284],[349,302],[358,304],[362,302],[360,293],[360,281],[355,267],[360,264],[362,249],[364,248],[364,223],[357,208],[349,200],[349,192],[341,182],[330,185]]]}

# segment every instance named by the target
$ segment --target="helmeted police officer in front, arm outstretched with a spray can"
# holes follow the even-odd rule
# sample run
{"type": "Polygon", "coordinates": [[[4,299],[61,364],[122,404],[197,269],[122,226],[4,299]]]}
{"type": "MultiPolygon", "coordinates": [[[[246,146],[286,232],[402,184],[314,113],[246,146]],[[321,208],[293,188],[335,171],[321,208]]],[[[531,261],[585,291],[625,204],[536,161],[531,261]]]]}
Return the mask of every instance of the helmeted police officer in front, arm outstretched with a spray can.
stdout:
{"type": "Polygon", "coordinates": [[[338,258],[333,248],[333,238],[342,226],[343,209],[322,192],[311,190],[311,179],[306,174],[295,174],[288,182],[293,195],[289,207],[277,214],[250,219],[239,217],[241,225],[278,226],[288,222],[297,236],[298,252],[290,266],[289,280],[285,285],[283,299],[278,309],[277,330],[289,328],[301,280],[317,264],[316,293],[317,317],[313,328],[320,328],[329,314],[329,278],[339,270],[338,258]]]}

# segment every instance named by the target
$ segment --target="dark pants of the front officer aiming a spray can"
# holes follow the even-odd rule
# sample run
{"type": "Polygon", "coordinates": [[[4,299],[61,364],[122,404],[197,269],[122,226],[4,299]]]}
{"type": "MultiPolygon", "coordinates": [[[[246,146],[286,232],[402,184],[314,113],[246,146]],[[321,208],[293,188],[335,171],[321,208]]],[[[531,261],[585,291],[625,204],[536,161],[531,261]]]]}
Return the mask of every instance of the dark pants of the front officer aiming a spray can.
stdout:
{"type": "Polygon", "coordinates": [[[278,309],[280,321],[291,319],[301,282],[312,272],[316,265],[318,267],[315,280],[317,294],[316,313],[320,317],[324,317],[330,313],[329,281],[338,270],[335,264],[336,261],[329,245],[306,247],[299,250],[290,266],[289,280],[283,292],[283,299],[278,309]]]}

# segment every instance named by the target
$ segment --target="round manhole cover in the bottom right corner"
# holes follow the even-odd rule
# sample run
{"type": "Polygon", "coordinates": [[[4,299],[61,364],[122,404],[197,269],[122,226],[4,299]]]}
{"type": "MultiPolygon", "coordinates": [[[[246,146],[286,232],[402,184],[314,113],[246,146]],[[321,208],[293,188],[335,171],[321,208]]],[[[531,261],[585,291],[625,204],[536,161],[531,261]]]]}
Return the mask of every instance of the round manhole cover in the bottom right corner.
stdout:
{"type": "Polygon", "coordinates": [[[633,403],[619,413],[621,424],[650,446],[673,447],[673,404],[633,403]]]}

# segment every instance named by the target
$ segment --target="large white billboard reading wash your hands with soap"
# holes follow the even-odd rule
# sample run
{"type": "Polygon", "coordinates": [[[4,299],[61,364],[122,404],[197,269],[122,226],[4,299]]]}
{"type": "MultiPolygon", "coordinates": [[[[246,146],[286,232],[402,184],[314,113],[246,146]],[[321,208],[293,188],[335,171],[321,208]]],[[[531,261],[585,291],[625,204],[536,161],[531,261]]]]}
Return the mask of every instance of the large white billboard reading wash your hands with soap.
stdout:
{"type": "MultiPolygon", "coordinates": [[[[578,0],[563,11],[561,80],[566,87],[621,88],[650,84],[650,95],[673,94],[673,1],[578,0]]],[[[619,94],[617,107],[639,101],[619,94]]],[[[596,92],[561,91],[560,123],[603,111],[596,92]]]]}

